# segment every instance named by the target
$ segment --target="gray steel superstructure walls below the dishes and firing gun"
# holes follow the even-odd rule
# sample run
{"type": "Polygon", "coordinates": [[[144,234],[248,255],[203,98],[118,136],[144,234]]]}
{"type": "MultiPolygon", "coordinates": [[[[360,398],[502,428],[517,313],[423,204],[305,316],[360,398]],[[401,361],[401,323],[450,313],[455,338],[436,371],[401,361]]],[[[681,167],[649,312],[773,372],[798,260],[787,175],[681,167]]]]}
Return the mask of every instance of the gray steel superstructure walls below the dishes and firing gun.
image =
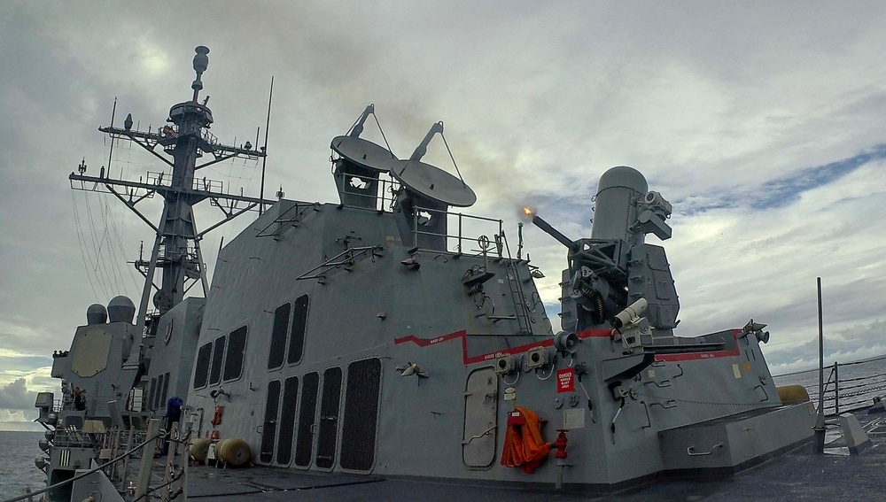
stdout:
{"type": "MultiPolygon", "coordinates": [[[[503,261],[488,260],[488,270],[495,275],[486,282],[485,294],[500,300],[490,315],[467,294],[462,282],[471,266],[483,265],[485,260],[439,251],[418,250],[411,255],[408,246],[400,243],[390,213],[319,205],[307,209],[297,226],[282,225],[276,235],[263,234],[269,225],[279,227],[273,223],[279,213],[272,209],[224,248],[206,305],[207,321],[198,351],[208,353],[207,344],[245,327],[242,375],[198,389],[192,383],[188,398],[190,408],[203,417],[204,435],[217,429],[222,438],[245,439],[257,462],[377,475],[550,483],[553,461],[543,463],[534,475],[498,463],[508,413],[521,405],[548,421],[543,428],[548,441],[556,436],[554,429],[571,429],[573,467],[565,476],[567,483],[611,485],[664,469],[659,439],[664,429],[739,413],[758,403],[778,404],[758,341],[753,336],[736,339],[734,331],[657,341],[668,345],[664,347],[668,350],[680,344],[700,348],[664,353],[652,366],[627,378],[619,372],[633,364],[633,356],[626,356],[608,332],[600,336],[599,329],[591,330],[592,336],[585,334],[571,358],[557,354],[553,367],[527,369],[526,351],[549,348],[552,333],[543,308],[532,314],[532,326],[537,328],[530,336],[518,335],[515,321],[491,320],[514,313],[507,301],[509,271],[503,261]],[[352,249],[378,245],[380,249],[364,252],[348,266],[320,268],[322,278],[308,274],[335,259],[346,245],[352,249]],[[410,256],[421,264],[417,270],[400,263],[410,256]],[[268,369],[276,309],[286,303],[294,305],[303,295],[309,298],[303,356],[299,362],[268,369]],[[493,370],[494,382],[475,381],[469,390],[474,372],[489,375],[497,359],[508,352],[515,352],[524,367],[509,375],[496,375],[493,370]],[[360,431],[375,435],[369,441],[374,451],[369,464],[343,467],[340,453],[343,430],[348,428],[342,418],[348,366],[374,358],[380,359],[381,366],[376,428],[360,431]],[[422,376],[400,375],[411,364],[422,376]],[[573,390],[558,393],[555,372],[570,365],[582,368],[580,382],[574,383],[573,390]],[[340,373],[327,371],[336,367],[340,373]],[[306,403],[302,394],[306,375],[312,373],[316,375],[309,379],[319,390],[310,406],[311,400],[306,403]],[[299,379],[291,380],[299,385],[298,390],[285,392],[285,382],[293,377],[299,379]],[[323,389],[330,378],[335,385],[330,392],[338,401],[326,401],[338,413],[330,413],[328,407],[324,411],[323,389]],[[477,385],[486,389],[482,399],[471,398],[477,385]],[[268,389],[274,395],[270,406],[268,389]],[[616,397],[618,392],[625,396],[625,405],[616,397]],[[506,394],[513,399],[505,400],[506,394]],[[289,404],[289,412],[286,398],[297,401],[289,404]],[[482,409],[491,399],[495,409],[482,409]],[[213,428],[210,420],[215,406],[223,410],[221,423],[213,428]],[[307,436],[299,438],[305,406],[313,407],[314,414],[307,436]],[[495,418],[486,428],[474,423],[483,419],[466,419],[489,413],[495,418]],[[327,422],[335,424],[332,436],[321,430],[327,422]],[[468,431],[466,423],[478,429],[468,431]],[[294,429],[282,430],[288,427],[294,429]],[[273,434],[268,428],[274,429],[273,434]],[[294,450],[282,457],[281,436],[292,438],[284,448],[294,450]],[[306,438],[309,447],[301,443],[306,438]],[[325,446],[318,452],[321,443],[325,446]],[[482,465],[478,459],[492,461],[482,465]]],[[[535,288],[528,268],[523,263],[517,270],[525,278],[525,295],[531,297],[535,288]]],[[[284,350],[289,350],[288,345],[284,350]]]]}

